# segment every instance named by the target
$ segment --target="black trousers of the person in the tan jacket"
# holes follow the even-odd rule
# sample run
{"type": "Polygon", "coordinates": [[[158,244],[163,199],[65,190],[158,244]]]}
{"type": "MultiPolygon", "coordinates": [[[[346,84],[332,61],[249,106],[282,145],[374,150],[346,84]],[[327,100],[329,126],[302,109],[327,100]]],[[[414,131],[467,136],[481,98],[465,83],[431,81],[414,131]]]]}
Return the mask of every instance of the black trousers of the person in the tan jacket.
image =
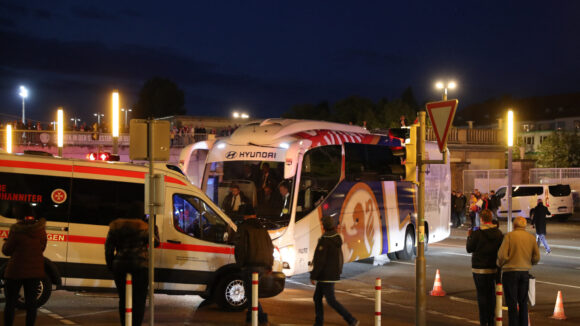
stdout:
{"type": "Polygon", "coordinates": [[[503,292],[508,306],[510,326],[528,325],[529,286],[530,274],[527,271],[503,273],[503,292]]]}

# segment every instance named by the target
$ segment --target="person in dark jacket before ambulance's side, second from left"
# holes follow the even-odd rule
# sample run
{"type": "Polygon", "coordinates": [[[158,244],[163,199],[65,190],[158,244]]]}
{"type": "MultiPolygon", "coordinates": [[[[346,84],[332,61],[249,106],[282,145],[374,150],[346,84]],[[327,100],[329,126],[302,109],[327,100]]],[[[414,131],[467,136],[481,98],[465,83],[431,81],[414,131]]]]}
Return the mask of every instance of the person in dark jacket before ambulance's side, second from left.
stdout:
{"type": "MultiPolygon", "coordinates": [[[[142,211],[142,208],[141,208],[142,211]]],[[[138,218],[119,218],[109,224],[105,241],[105,260],[113,272],[119,294],[119,318],[125,325],[125,282],[131,274],[133,283],[133,326],[139,326],[145,315],[145,302],[149,285],[149,225],[138,218]]],[[[159,245],[157,234],[155,246],[159,245]]]]}

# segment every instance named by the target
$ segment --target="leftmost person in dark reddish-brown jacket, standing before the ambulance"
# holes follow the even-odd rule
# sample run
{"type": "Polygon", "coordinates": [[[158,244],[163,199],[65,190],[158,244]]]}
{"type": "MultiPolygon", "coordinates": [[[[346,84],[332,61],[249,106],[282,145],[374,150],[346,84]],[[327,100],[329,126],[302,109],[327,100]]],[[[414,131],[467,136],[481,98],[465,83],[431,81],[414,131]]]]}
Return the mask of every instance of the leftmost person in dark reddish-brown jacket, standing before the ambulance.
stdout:
{"type": "Polygon", "coordinates": [[[46,221],[37,220],[28,204],[16,206],[14,216],[16,223],[10,227],[8,238],[4,239],[2,246],[2,253],[10,256],[4,271],[4,325],[12,326],[14,323],[18,293],[20,288],[24,288],[26,326],[33,326],[36,321],[36,291],[45,277],[43,252],[47,240],[46,221]]]}

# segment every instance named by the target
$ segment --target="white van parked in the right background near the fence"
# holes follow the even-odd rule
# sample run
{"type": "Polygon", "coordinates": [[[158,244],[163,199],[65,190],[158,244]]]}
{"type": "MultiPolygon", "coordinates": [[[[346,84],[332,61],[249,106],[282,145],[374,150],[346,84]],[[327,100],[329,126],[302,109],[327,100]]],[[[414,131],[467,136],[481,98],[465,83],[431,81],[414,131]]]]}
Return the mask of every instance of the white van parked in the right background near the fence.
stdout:
{"type": "MultiPolygon", "coordinates": [[[[507,187],[497,189],[496,195],[501,198],[497,210],[498,217],[507,218],[507,187]]],[[[530,217],[530,210],[536,207],[538,199],[542,199],[551,216],[567,219],[574,212],[574,202],[570,185],[528,184],[512,186],[512,217],[530,217]]]]}

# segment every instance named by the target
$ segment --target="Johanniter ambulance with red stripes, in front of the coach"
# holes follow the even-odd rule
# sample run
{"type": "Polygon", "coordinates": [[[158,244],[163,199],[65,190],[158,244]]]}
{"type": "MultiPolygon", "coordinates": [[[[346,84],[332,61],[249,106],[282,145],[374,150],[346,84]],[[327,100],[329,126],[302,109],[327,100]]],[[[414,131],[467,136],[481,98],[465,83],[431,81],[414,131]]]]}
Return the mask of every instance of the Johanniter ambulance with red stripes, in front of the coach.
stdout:
{"type": "MultiPolygon", "coordinates": [[[[104,256],[108,225],[138,216],[147,173],[146,166],[129,163],[0,154],[0,238],[15,223],[14,205],[29,204],[47,221],[47,278],[39,286],[39,305],[52,285],[114,288],[104,256]]],[[[156,216],[161,245],[154,251],[155,291],[198,294],[223,308],[243,309],[247,300],[232,244],[236,225],[179,168],[159,163],[155,173],[164,178],[163,214],[156,216]]],[[[0,275],[6,262],[0,254],[0,275]]],[[[281,269],[278,260],[272,288],[260,289],[261,296],[283,290],[281,269]]]]}

